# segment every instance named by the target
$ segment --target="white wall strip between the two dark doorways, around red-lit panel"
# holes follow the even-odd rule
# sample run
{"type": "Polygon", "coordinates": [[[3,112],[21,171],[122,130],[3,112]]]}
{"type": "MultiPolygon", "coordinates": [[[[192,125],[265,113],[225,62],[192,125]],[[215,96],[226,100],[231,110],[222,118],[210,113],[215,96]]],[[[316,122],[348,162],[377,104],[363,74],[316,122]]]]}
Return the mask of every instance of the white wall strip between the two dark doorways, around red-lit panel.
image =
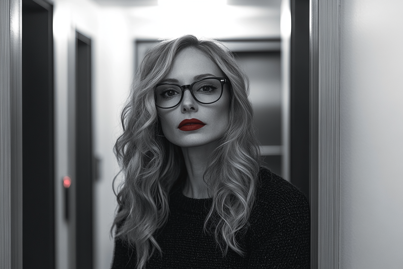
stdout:
{"type": "MultiPolygon", "coordinates": [[[[74,91],[75,30],[87,35],[96,48],[98,35],[97,6],[88,0],[55,0],[53,16],[54,34],[54,93],[55,93],[55,265],[58,269],[75,268],[75,225],[74,214],[70,220],[64,219],[64,193],[62,178],[72,178],[70,194],[75,188],[74,160],[71,149],[74,143],[72,116],[74,107],[69,101],[74,91]]],[[[94,68],[96,74],[96,67],[94,68]]],[[[70,195],[71,200],[74,196],[70,195]]],[[[71,205],[71,204],[70,204],[71,205]]],[[[72,207],[71,207],[72,208],[72,207]]]]}

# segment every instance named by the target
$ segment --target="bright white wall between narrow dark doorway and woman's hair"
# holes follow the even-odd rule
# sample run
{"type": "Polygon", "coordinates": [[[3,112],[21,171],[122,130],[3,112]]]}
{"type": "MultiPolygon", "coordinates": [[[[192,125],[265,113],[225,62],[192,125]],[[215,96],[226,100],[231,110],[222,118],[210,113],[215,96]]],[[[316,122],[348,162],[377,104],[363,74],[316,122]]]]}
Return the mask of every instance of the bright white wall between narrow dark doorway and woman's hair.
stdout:
{"type": "Polygon", "coordinates": [[[114,248],[110,228],[117,205],[112,180],[119,171],[113,146],[121,132],[120,111],[130,89],[134,55],[129,23],[120,9],[100,8],[98,26],[93,118],[95,153],[102,160],[102,171],[94,186],[94,268],[108,269],[114,248]]]}

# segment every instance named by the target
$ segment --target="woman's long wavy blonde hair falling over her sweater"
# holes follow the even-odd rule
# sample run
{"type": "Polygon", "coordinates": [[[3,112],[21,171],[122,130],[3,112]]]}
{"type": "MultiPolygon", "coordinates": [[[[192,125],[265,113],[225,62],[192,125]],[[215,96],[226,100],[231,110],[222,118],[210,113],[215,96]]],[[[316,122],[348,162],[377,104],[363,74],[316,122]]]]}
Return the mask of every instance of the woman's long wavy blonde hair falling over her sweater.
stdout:
{"type": "Polygon", "coordinates": [[[228,248],[244,254],[236,236],[247,229],[260,166],[247,97],[249,80],[221,43],[184,35],[159,42],[145,54],[122,111],[123,133],[114,146],[124,180],[115,192],[119,210],[112,228],[116,225],[116,236],[135,248],[138,269],[145,267],[155,250],[162,254],[154,234],[168,219],[172,186],[186,173],[181,148],[162,133],[154,87],[170,71],[178,52],[189,47],[208,56],[231,81],[229,125],[203,175],[212,197],[204,229],[214,234],[223,255],[228,248]]]}

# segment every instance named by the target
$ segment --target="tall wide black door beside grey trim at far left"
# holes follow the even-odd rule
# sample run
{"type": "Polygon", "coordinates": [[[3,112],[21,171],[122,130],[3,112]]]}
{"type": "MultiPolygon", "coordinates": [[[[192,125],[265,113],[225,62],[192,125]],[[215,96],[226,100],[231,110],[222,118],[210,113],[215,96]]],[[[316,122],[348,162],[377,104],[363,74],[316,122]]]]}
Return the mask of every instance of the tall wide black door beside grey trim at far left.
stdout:
{"type": "Polygon", "coordinates": [[[22,1],[23,267],[54,268],[52,5],[22,1]]]}

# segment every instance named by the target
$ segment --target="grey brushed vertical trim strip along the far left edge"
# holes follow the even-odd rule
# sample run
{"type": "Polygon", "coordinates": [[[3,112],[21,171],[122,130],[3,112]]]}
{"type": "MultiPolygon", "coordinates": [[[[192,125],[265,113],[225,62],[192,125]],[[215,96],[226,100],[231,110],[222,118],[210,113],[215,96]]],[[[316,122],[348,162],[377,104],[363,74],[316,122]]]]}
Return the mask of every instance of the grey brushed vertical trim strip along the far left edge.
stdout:
{"type": "Polygon", "coordinates": [[[21,1],[0,2],[0,268],[22,268],[21,1]]]}

